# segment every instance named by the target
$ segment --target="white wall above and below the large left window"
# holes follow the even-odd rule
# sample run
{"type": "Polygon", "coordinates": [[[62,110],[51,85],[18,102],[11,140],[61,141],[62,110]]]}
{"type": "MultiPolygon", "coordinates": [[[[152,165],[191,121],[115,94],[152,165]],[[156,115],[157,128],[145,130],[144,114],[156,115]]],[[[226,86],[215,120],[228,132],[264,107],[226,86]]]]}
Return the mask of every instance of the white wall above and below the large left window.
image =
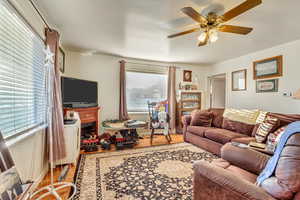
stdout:
{"type": "MultiPolygon", "coordinates": [[[[29,1],[12,0],[14,6],[43,38],[44,24],[29,1]]],[[[45,131],[38,130],[22,140],[9,140],[9,150],[23,181],[40,181],[48,170],[45,160],[45,131]]]]}

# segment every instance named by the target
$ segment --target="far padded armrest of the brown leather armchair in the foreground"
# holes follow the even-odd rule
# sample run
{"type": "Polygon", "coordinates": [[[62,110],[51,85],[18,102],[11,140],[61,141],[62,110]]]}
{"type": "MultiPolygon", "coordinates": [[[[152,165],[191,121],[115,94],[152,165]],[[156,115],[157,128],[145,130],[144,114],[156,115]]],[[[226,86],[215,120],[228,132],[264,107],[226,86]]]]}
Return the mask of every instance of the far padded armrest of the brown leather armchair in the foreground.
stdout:
{"type": "Polygon", "coordinates": [[[270,156],[258,151],[225,144],[221,149],[221,157],[232,165],[257,175],[265,168],[270,156]]]}

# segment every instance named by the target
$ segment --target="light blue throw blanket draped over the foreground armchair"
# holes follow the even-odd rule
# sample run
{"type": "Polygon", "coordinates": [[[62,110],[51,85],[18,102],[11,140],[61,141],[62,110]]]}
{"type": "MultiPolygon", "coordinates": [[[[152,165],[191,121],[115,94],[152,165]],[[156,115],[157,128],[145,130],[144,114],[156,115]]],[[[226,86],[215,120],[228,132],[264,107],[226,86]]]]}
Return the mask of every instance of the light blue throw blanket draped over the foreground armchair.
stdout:
{"type": "Polygon", "coordinates": [[[260,173],[260,175],[257,177],[256,184],[261,185],[264,180],[269,178],[273,175],[277,162],[280,158],[280,154],[288,141],[288,139],[294,135],[295,133],[300,133],[300,121],[293,122],[287,126],[285,131],[282,133],[282,136],[280,137],[280,140],[277,144],[276,150],[274,152],[274,155],[270,158],[267,165],[265,166],[265,169],[260,173]]]}

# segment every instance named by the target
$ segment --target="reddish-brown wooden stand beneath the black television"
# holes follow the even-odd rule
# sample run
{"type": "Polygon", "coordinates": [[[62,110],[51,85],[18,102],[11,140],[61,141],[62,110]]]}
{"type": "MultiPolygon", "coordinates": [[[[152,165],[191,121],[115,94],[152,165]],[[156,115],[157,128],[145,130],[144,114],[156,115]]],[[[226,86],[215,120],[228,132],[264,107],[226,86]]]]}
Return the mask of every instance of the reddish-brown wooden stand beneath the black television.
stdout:
{"type": "Polygon", "coordinates": [[[84,136],[85,134],[98,135],[99,110],[100,107],[64,108],[64,115],[66,115],[67,111],[74,111],[79,114],[81,120],[81,136],[84,136]]]}

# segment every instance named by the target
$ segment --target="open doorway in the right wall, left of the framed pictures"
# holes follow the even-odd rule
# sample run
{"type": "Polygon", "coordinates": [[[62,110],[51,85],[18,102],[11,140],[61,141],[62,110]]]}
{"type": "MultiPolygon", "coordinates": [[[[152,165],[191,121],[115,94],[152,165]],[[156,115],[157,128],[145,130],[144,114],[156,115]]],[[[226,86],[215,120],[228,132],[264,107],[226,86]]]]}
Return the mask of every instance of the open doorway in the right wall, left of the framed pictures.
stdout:
{"type": "Polygon", "coordinates": [[[208,77],[209,107],[225,108],[226,105],[226,74],[208,77]]]}

